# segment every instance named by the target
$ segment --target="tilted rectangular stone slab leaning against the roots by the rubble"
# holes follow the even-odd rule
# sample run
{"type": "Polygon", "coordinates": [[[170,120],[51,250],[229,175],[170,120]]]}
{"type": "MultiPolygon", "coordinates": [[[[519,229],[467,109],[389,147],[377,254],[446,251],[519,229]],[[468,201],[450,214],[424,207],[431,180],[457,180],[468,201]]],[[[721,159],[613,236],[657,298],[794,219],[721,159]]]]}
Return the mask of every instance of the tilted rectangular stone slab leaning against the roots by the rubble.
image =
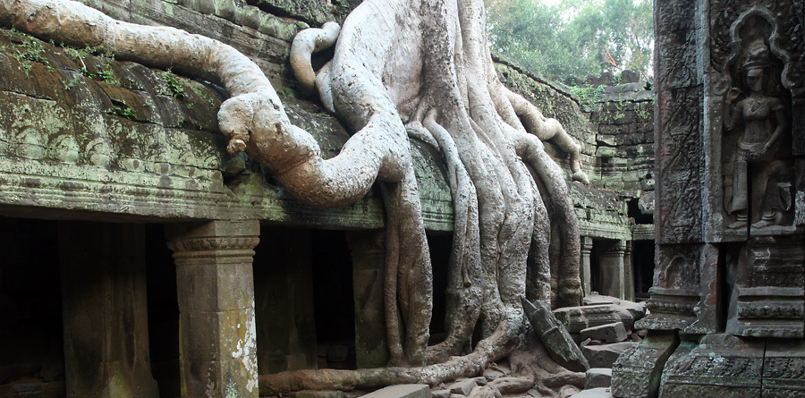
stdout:
{"type": "Polygon", "coordinates": [[[521,302],[531,327],[537,332],[551,358],[564,368],[574,371],[587,370],[589,364],[581,354],[579,346],[573,342],[567,329],[556,320],[551,310],[542,301],[532,303],[521,297],[521,302]]]}

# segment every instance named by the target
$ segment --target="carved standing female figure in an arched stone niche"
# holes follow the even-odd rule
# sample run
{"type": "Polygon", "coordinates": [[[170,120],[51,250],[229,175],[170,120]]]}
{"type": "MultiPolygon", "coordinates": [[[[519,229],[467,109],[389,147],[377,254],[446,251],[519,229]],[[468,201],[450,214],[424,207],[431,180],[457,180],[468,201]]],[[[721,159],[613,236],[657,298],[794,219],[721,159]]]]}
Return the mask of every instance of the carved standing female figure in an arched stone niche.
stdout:
{"type": "Polygon", "coordinates": [[[722,174],[724,228],[750,234],[792,232],[791,92],[788,55],[776,46],[776,21],[754,7],[732,27],[724,66],[722,174]]]}

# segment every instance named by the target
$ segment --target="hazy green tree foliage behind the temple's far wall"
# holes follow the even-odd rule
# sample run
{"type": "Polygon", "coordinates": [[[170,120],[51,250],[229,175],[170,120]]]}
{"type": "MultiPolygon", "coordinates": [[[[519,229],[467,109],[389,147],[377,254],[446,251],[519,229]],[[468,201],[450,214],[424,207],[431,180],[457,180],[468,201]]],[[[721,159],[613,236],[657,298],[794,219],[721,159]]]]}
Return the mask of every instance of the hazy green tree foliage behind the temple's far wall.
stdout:
{"type": "Polygon", "coordinates": [[[626,69],[649,76],[651,0],[486,0],[493,49],[553,80],[626,69]]]}

